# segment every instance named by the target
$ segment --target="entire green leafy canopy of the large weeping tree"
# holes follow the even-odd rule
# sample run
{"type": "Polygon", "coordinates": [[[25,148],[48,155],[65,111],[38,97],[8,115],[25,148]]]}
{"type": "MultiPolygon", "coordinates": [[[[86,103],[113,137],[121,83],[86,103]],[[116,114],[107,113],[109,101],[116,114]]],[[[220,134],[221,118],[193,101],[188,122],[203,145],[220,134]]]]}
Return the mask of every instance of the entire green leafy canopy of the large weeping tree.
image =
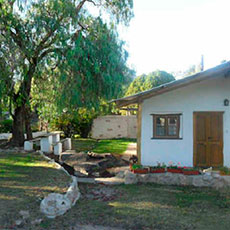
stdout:
{"type": "Polygon", "coordinates": [[[49,122],[121,93],[130,70],[116,24],[128,24],[132,0],[17,2],[0,1],[0,106],[6,97],[10,110],[34,107],[49,122]]]}

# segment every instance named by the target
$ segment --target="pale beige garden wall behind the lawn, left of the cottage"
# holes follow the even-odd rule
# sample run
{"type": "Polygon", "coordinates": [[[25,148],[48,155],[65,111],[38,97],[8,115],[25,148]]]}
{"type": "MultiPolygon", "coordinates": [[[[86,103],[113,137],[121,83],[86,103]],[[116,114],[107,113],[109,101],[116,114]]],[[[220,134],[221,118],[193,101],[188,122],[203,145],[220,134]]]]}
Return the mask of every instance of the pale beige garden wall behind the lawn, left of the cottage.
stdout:
{"type": "Polygon", "coordinates": [[[94,119],[92,126],[92,138],[136,138],[137,117],[108,115],[94,119]]]}

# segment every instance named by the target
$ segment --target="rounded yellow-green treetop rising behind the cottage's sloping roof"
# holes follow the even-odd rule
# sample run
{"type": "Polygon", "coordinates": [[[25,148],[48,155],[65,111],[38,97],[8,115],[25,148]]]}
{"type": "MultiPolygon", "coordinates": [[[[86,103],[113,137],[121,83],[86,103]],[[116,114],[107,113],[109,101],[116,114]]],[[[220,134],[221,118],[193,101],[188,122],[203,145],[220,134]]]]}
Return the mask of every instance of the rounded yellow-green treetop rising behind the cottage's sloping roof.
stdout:
{"type": "Polygon", "coordinates": [[[143,74],[133,80],[126,92],[126,96],[143,92],[174,80],[175,78],[173,75],[160,70],[154,71],[148,75],[143,74]]]}

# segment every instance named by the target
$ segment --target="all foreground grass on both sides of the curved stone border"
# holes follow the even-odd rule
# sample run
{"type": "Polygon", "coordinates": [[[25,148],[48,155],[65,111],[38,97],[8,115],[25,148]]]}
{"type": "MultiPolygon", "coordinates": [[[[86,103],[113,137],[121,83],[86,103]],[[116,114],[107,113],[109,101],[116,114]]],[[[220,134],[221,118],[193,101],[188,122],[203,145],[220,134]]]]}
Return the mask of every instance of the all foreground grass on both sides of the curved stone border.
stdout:
{"type": "MultiPolygon", "coordinates": [[[[50,192],[66,191],[69,178],[39,155],[0,153],[0,229],[11,229],[20,210],[30,219],[22,229],[72,229],[76,223],[132,230],[228,230],[230,191],[209,188],[137,184],[80,184],[81,198],[64,216],[46,219],[39,212],[50,192]],[[95,191],[109,188],[115,197],[102,201],[95,191]],[[43,218],[33,226],[31,220],[43,218]]],[[[75,229],[74,229],[75,230],[75,229]]]]}

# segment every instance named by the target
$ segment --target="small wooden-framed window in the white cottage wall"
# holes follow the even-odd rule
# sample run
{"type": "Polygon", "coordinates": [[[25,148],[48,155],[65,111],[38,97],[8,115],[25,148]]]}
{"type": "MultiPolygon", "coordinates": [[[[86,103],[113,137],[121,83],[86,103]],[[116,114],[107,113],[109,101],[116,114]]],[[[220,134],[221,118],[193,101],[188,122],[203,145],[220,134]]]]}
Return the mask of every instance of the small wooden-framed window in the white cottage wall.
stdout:
{"type": "Polygon", "coordinates": [[[179,139],[181,114],[152,114],[153,139],[179,139]]]}

